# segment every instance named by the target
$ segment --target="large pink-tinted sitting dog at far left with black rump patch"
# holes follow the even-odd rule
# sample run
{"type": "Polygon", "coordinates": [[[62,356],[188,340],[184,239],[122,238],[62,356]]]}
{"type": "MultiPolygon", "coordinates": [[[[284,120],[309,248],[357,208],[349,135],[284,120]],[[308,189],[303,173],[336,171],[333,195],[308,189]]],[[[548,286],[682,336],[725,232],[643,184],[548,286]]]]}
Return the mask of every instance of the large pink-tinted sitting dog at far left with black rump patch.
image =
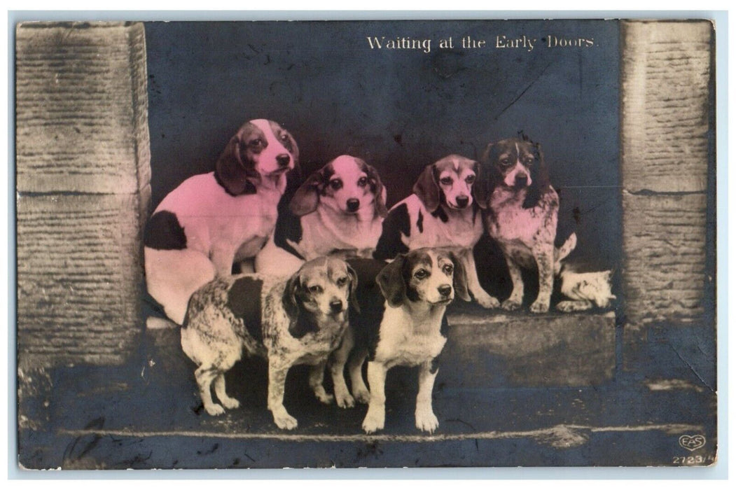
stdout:
{"type": "Polygon", "coordinates": [[[169,319],[184,320],[197,288],[255,257],[276,223],[297,143],[274,121],[245,123],[215,171],[182,182],[158,205],[144,232],[146,286],[169,319]]]}

